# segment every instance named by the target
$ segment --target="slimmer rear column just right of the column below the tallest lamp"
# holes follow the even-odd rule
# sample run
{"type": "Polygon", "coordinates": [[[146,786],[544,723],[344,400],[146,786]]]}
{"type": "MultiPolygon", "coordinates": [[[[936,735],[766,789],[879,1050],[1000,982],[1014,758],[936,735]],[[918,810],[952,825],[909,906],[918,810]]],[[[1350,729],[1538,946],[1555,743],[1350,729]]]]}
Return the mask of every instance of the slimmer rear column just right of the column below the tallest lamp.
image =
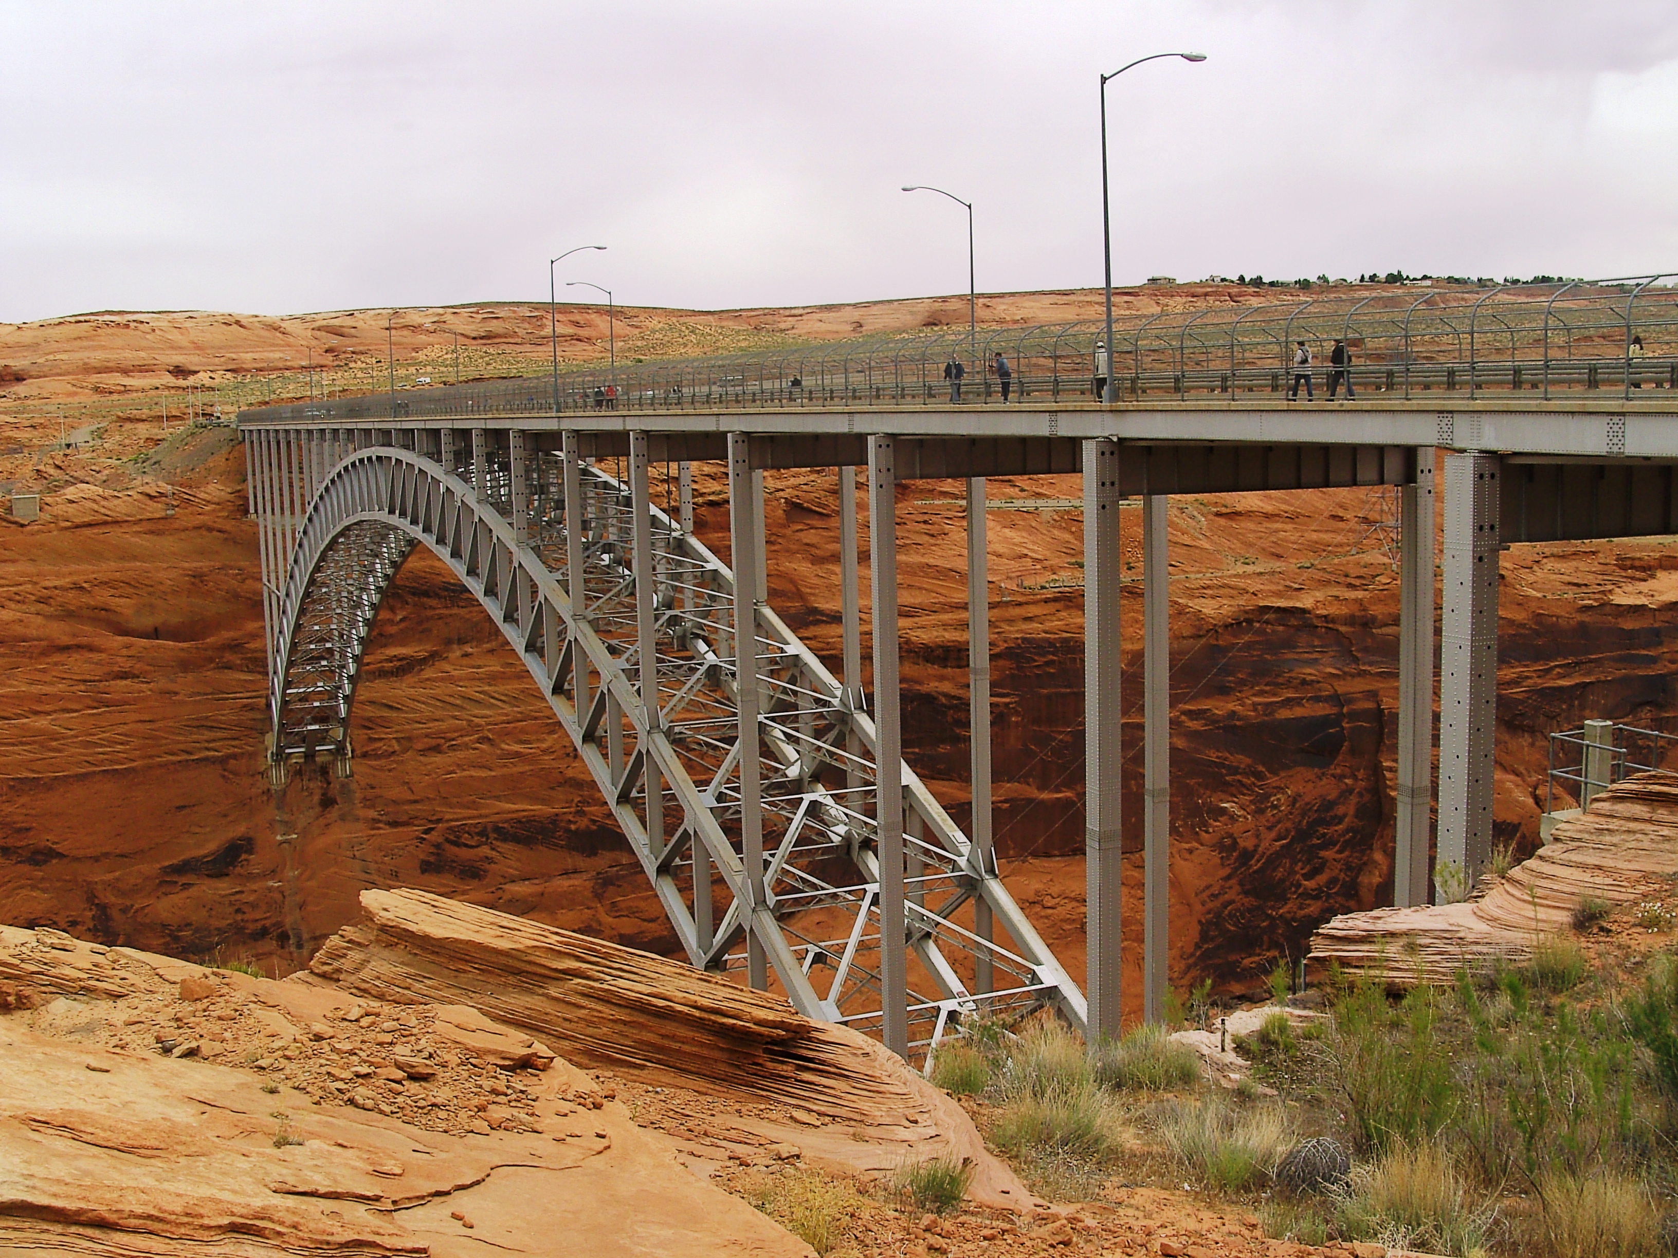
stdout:
{"type": "Polygon", "coordinates": [[[1143,495],[1143,1018],[1165,1021],[1171,990],[1171,552],[1170,498],[1143,495]]]}

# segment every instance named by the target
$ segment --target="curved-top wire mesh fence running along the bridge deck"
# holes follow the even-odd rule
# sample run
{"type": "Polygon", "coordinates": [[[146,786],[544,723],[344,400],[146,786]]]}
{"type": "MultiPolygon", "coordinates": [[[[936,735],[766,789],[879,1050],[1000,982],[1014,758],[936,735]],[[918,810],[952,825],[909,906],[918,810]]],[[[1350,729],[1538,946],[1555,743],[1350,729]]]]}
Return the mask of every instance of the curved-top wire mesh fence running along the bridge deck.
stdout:
{"type": "Polygon", "coordinates": [[[1569,283],[1311,297],[1131,315],[1114,324],[938,329],[866,340],[673,359],[267,406],[252,419],[356,421],[753,406],[1096,401],[1104,367],[1124,401],[1285,396],[1312,387],[1415,398],[1678,389],[1678,273],[1569,283]],[[1311,367],[1295,369],[1304,342],[1311,367]],[[1344,346],[1349,362],[1336,364],[1344,346]],[[1008,364],[1002,377],[995,359],[1008,364]],[[951,387],[946,367],[961,364],[951,387]],[[1007,391],[1007,398],[1003,398],[1007,391]]]}

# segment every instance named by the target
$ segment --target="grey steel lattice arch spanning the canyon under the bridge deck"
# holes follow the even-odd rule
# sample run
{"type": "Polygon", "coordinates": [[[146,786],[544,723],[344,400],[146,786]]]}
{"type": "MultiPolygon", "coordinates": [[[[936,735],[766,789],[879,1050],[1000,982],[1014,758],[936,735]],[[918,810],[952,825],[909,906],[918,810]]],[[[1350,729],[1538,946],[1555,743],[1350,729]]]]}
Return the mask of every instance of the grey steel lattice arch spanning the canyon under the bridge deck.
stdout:
{"type": "MultiPolygon", "coordinates": [[[[579,458],[574,439],[564,455],[530,458],[515,441],[500,465],[475,460],[468,483],[445,466],[448,446],[440,461],[398,446],[258,436],[252,505],[265,570],[284,572],[265,599],[277,780],[305,758],[349,772],[367,634],[423,543],[519,652],[690,961],[745,968],[800,1013],[879,1033],[888,936],[874,723],[757,599],[755,651],[738,651],[733,572],[649,502],[641,450],[619,480],[579,458]],[[750,658],[742,716],[737,661],[750,658]],[[752,740],[740,733],[752,728],[757,756],[742,753],[752,740]]],[[[1030,1005],[1082,1028],[1082,993],[995,862],[906,765],[901,782],[908,896],[898,929],[913,1040],[930,1047],[968,1018],[1030,1005]]]]}

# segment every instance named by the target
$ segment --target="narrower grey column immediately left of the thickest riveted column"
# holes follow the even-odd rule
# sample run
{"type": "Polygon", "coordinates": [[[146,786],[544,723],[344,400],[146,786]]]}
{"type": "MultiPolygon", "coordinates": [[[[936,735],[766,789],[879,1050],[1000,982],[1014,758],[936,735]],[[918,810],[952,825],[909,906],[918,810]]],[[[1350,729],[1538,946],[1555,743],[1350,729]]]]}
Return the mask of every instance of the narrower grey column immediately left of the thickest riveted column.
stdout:
{"type": "Polygon", "coordinates": [[[1398,510],[1398,800],[1393,904],[1426,904],[1433,825],[1433,448],[1416,451],[1416,483],[1398,510]]]}

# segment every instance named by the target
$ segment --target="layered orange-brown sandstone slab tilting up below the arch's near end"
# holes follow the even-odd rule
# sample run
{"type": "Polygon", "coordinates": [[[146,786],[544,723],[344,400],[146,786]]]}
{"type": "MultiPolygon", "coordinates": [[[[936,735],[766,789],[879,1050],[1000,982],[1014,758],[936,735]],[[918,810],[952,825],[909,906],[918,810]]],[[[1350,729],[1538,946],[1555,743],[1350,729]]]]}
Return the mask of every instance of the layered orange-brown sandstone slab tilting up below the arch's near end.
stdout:
{"type": "Polygon", "coordinates": [[[846,1171],[955,1156],[975,1166],[975,1198],[1012,1208],[1025,1196],[950,1097],[876,1042],[779,996],[421,891],[364,891],[361,907],[310,963],[339,991],[475,1006],[643,1092],[720,1100],[730,1124],[846,1171]]]}

